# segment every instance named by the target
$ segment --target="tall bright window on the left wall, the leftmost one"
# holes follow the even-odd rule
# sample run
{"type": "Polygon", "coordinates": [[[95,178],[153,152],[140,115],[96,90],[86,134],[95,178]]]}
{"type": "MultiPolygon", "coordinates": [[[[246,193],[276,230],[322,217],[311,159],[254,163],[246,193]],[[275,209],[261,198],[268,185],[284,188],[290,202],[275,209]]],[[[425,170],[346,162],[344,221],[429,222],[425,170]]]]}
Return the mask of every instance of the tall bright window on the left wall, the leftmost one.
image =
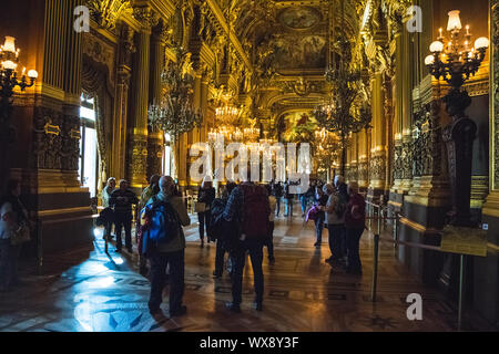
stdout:
{"type": "Polygon", "coordinates": [[[80,140],[80,181],[88,187],[90,197],[98,194],[99,153],[95,131],[95,98],[82,94],[80,106],[81,140],[80,140]]]}

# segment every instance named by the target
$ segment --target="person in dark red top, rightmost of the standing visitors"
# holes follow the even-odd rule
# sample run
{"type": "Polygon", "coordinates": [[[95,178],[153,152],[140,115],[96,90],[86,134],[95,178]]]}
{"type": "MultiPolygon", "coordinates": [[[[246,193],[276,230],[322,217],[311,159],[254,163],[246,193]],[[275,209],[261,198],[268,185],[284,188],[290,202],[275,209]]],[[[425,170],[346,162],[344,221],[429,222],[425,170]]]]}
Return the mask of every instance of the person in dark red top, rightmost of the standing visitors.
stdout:
{"type": "Polygon", "coordinates": [[[347,241],[347,272],[361,275],[363,266],[360,262],[359,244],[360,237],[366,229],[366,201],[358,192],[358,184],[350,183],[348,185],[348,201],[345,212],[345,228],[347,241]]]}

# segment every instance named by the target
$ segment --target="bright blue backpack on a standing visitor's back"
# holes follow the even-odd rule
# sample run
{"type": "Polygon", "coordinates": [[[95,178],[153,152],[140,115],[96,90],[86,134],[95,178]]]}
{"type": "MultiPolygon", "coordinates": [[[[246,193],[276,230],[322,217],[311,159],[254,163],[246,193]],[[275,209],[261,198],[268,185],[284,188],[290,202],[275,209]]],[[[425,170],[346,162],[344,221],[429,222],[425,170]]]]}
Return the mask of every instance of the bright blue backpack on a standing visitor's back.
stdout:
{"type": "Polygon", "coordinates": [[[154,198],[144,209],[145,218],[150,220],[145,230],[147,241],[167,243],[179,235],[179,217],[169,201],[154,198]]]}

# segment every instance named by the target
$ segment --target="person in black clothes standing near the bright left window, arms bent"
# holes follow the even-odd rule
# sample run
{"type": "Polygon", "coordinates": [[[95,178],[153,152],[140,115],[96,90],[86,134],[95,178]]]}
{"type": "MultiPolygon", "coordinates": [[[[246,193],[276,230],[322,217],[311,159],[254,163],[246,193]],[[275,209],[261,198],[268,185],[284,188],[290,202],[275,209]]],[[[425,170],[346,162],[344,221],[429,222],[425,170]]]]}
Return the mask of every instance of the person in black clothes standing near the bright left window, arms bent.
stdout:
{"type": "Polygon", "coordinates": [[[120,189],[114,190],[109,199],[109,205],[114,206],[114,222],[116,227],[116,252],[123,247],[121,229],[125,230],[125,247],[132,253],[132,205],[139,204],[135,194],[129,189],[129,183],[120,180],[120,189]]]}

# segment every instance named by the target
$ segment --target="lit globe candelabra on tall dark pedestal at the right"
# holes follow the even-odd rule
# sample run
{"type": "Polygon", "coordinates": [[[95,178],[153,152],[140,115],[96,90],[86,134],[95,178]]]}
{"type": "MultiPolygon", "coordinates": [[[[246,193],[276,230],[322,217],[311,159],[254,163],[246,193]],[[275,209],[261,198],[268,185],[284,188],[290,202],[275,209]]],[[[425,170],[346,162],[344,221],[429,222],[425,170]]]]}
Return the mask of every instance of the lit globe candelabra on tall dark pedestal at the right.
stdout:
{"type": "Polygon", "coordinates": [[[489,40],[481,37],[475,41],[473,48],[469,29],[469,25],[466,25],[466,33],[462,33],[459,11],[450,11],[447,25],[450,39],[446,43],[440,29],[437,41],[430,45],[431,55],[425,60],[430,74],[450,85],[442,98],[446,112],[452,118],[452,123],[444,129],[454,204],[449,216],[451,225],[462,227],[475,226],[471,220],[470,198],[472,145],[477,134],[476,123],[465,114],[471,98],[462,86],[478,72],[489,46],[489,40]]]}

